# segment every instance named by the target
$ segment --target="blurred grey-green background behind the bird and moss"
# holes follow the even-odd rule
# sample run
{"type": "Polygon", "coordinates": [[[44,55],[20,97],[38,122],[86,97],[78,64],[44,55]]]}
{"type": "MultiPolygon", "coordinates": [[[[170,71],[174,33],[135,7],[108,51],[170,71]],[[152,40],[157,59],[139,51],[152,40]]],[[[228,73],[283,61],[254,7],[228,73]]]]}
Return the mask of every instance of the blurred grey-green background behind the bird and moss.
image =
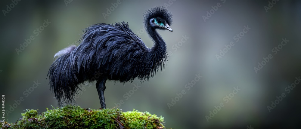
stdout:
{"type": "MultiPolygon", "coordinates": [[[[137,109],[162,115],[166,127],[175,129],[292,128],[300,121],[300,84],[290,93],[286,88],[301,74],[301,1],[121,0],[116,8],[112,5],[116,0],[20,1],[11,5],[13,3],[16,2],[5,0],[0,6],[3,13],[0,14],[0,94],[5,95],[5,109],[11,111],[5,114],[9,122],[15,122],[25,109],[43,112],[45,107],[57,106],[46,79],[53,56],[76,44],[82,29],[89,25],[129,22],[132,31],[151,48],[153,42],[144,31],[143,14],[154,6],[166,6],[173,14],[173,32],[158,31],[167,44],[168,63],[163,72],[157,72],[148,82],[134,80],[124,86],[108,81],[105,91],[108,108],[123,100],[119,107],[123,111],[137,109]],[[272,7],[266,11],[269,2],[272,7]],[[214,6],[218,3],[221,6],[211,11],[210,16],[207,11],[216,9],[214,6]],[[7,5],[13,8],[10,10],[7,5]],[[107,8],[113,11],[104,17],[107,8]],[[204,21],[203,16],[208,19],[204,21]],[[40,28],[44,20],[50,23],[37,35],[34,30],[40,28]],[[237,41],[234,36],[240,34],[244,26],[251,29],[241,33],[244,36],[237,41]],[[183,38],[185,35],[187,40],[183,38]],[[31,36],[34,40],[17,53],[20,44],[31,36]],[[282,38],[289,40],[285,46],[280,45],[282,38]],[[216,55],[231,41],[234,46],[217,59],[216,55]],[[282,49],[275,54],[272,51],[278,45],[282,49]],[[273,58],[256,73],[254,67],[258,68],[258,63],[269,54],[273,58]],[[188,90],[185,85],[194,80],[195,74],[202,78],[188,90]],[[34,81],[40,84],[33,86],[34,81]],[[130,91],[137,84],[141,87],[130,91]],[[231,96],[233,87],[240,91],[231,96]],[[186,94],[177,99],[182,90],[186,94]],[[133,94],[124,95],[127,92],[133,94]],[[275,103],[282,93],[286,97],[275,107],[271,101],[275,103]],[[226,101],[224,97],[229,95],[231,100],[226,101]],[[172,99],[178,101],[169,108],[167,103],[172,103],[172,99]],[[224,106],[216,113],[215,106],[219,109],[220,103],[224,106]],[[16,108],[11,108],[13,106],[16,108]],[[269,111],[267,106],[275,108],[269,111]],[[208,119],[210,112],[216,114],[208,119]]],[[[76,104],[83,108],[100,108],[95,83],[83,84],[82,88],[84,92],[76,104]]]]}

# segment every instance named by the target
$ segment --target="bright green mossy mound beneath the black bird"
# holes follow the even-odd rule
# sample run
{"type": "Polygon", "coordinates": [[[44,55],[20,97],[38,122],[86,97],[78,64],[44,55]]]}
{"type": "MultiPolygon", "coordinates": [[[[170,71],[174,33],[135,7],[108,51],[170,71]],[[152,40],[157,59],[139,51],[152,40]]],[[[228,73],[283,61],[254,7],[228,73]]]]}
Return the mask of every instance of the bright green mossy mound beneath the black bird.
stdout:
{"type": "Polygon", "coordinates": [[[26,109],[16,123],[5,123],[4,129],[163,129],[164,118],[149,112],[122,112],[121,109],[84,109],[79,106],[54,108],[42,114],[26,109]]]}

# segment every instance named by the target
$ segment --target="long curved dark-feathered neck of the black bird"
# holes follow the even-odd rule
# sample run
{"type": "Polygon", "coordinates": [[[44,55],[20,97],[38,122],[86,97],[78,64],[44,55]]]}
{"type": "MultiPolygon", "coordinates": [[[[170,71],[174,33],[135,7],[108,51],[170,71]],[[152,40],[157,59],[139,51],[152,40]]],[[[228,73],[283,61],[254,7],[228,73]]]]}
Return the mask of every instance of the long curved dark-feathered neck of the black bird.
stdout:
{"type": "Polygon", "coordinates": [[[154,76],[157,70],[162,70],[162,66],[164,67],[167,60],[167,49],[165,41],[162,37],[157,33],[154,28],[148,27],[146,28],[147,33],[154,40],[154,46],[151,50],[145,55],[143,59],[143,67],[141,70],[143,77],[142,80],[146,80],[154,76]]]}

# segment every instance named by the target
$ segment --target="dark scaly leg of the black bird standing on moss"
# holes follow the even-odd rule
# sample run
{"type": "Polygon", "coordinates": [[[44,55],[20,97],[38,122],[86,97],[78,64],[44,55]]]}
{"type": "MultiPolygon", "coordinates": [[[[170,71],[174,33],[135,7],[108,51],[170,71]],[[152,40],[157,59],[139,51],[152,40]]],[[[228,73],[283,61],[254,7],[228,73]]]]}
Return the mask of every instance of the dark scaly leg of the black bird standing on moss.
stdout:
{"type": "Polygon", "coordinates": [[[99,100],[100,100],[100,104],[101,104],[102,109],[106,108],[106,102],[104,101],[104,90],[106,89],[106,81],[107,81],[107,78],[104,77],[102,79],[99,79],[96,82],[96,89],[97,89],[97,92],[98,92],[98,96],[99,96],[99,100]]]}

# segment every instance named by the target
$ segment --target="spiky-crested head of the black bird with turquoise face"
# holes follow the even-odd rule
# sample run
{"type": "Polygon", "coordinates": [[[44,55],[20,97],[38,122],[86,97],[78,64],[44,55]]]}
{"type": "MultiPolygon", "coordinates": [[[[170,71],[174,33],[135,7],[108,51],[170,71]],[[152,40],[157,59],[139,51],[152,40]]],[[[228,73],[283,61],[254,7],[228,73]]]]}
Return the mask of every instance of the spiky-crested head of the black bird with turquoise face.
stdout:
{"type": "Polygon", "coordinates": [[[154,29],[169,30],[172,32],[170,25],[172,24],[172,14],[164,7],[154,7],[146,11],[144,14],[145,27],[154,29]]]}

